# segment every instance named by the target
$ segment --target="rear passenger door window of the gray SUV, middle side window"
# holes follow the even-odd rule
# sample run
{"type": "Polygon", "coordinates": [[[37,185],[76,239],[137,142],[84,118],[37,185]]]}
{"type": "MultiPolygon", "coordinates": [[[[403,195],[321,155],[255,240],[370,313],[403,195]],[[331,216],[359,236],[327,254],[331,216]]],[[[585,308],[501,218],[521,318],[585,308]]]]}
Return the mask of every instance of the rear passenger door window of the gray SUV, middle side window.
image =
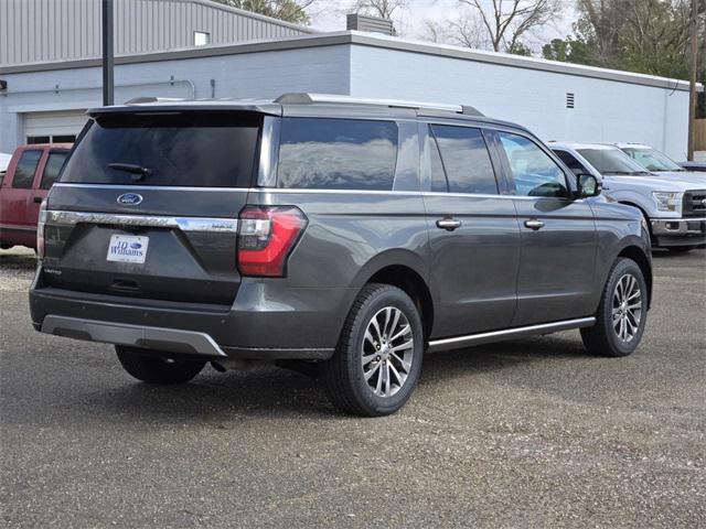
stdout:
{"type": "Polygon", "coordinates": [[[480,129],[432,125],[431,131],[441,152],[450,193],[498,194],[493,164],[480,129]]]}

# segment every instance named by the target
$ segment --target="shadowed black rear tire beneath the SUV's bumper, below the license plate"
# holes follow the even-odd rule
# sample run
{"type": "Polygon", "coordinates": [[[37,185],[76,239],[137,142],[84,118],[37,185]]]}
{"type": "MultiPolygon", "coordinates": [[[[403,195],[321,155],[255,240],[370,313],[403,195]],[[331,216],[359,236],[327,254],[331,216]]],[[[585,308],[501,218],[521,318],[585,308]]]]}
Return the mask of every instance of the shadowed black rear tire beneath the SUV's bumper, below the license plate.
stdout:
{"type": "Polygon", "coordinates": [[[184,384],[194,378],[203,366],[204,360],[169,358],[157,352],[146,352],[136,347],[116,345],[120,365],[138,380],[148,384],[173,385],[184,384]]]}

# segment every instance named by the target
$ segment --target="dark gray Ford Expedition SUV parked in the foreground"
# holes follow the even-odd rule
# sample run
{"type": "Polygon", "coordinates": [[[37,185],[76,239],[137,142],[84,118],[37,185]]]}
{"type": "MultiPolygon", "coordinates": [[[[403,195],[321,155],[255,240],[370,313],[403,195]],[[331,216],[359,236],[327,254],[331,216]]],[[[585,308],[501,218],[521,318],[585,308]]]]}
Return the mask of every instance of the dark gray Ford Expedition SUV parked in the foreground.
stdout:
{"type": "Polygon", "coordinates": [[[471,107],[289,94],[90,110],[42,207],[36,330],[133,377],[268,360],[345,412],[409,398],[428,352],[580,328],[632,353],[638,209],[471,107]]]}

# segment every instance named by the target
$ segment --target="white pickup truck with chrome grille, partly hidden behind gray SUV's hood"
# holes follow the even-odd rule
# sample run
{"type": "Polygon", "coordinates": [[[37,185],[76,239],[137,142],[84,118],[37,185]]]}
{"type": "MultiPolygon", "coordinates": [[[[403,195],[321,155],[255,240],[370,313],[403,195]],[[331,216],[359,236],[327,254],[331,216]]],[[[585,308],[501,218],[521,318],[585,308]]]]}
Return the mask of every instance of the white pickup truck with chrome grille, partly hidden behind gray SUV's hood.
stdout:
{"type": "Polygon", "coordinates": [[[642,210],[653,246],[688,251],[706,245],[706,173],[648,171],[618,147],[603,143],[548,145],[576,174],[600,179],[606,197],[642,210]]]}

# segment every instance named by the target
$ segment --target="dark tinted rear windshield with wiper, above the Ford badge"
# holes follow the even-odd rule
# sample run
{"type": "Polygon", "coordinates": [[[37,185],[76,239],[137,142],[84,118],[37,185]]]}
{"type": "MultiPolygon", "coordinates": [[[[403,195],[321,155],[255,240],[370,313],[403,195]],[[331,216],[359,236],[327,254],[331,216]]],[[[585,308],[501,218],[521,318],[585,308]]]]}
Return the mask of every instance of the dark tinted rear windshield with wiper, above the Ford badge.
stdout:
{"type": "Polygon", "coordinates": [[[99,116],[89,122],[60,181],[248,187],[260,125],[260,116],[244,112],[99,116]]]}

